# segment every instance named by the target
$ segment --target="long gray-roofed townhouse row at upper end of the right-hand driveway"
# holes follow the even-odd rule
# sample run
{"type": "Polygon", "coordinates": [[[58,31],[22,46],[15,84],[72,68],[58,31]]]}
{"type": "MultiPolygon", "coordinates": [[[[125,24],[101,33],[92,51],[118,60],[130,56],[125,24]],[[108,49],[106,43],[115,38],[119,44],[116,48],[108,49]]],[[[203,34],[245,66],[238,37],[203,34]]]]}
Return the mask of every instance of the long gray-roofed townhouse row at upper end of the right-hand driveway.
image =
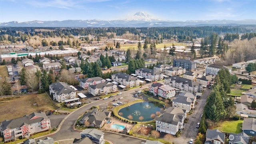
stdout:
{"type": "Polygon", "coordinates": [[[203,90],[202,84],[179,76],[170,76],[165,78],[164,84],[190,93],[202,92],[203,90]]]}

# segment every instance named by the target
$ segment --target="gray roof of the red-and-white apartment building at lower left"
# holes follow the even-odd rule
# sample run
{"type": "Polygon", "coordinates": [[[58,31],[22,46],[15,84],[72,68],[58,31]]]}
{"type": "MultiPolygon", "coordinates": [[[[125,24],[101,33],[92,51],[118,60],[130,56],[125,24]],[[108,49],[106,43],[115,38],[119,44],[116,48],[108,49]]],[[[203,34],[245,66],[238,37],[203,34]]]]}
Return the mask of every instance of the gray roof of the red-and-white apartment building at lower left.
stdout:
{"type": "Polygon", "coordinates": [[[42,120],[48,120],[46,114],[44,112],[33,112],[30,115],[25,115],[20,118],[15,118],[12,120],[4,120],[2,122],[2,131],[6,129],[19,128],[23,125],[34,124],[36,122],[41,122],[42,120]],[[33,118],[34,116],[38,116],[38,118],[33,118]]]}

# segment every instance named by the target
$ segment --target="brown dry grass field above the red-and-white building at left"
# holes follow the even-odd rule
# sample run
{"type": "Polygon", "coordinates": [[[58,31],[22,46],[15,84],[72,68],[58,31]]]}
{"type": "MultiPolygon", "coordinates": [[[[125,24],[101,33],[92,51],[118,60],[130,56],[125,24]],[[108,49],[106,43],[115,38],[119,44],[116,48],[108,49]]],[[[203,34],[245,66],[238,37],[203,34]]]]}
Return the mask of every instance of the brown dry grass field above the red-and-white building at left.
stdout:
{"type": "Polygon", "coordinates": [[[56,110],[46,93],[0,98],[0,122],[22,117],[32,112],[56,110]],[[36,103],[36,105],[33,105],[36,103]]]}

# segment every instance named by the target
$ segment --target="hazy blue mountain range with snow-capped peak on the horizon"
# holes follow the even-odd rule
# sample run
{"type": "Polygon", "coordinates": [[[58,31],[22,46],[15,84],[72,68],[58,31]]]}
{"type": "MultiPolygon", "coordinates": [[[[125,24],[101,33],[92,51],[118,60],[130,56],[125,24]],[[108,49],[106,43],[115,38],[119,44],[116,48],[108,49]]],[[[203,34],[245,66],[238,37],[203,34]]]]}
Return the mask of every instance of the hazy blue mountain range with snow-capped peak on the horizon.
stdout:
{"type": "Polygon", "coordinates": [[[145,12],[137,12],[124,20],[63,20],[2,22],[0,27],[170,27],[170,26],[224,26],[256,25],[256,20],[187,20],[170,21],[156,19],[145,12]]]}

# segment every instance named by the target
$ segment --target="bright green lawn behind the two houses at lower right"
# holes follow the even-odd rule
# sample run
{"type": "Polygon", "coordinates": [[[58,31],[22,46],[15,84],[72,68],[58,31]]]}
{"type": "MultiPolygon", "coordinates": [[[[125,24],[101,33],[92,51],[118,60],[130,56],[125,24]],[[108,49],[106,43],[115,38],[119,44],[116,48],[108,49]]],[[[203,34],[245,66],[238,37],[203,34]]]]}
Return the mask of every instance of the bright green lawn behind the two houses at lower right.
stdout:
{"type": "Polygon", "coordinates": [[[218,129],[222,132],[232,132],[234,134],[238,134],[242,132],[242,122],[243,120],[226,120],[224,122],[219,122],[219,127],[214,129],[218,129]]]}

